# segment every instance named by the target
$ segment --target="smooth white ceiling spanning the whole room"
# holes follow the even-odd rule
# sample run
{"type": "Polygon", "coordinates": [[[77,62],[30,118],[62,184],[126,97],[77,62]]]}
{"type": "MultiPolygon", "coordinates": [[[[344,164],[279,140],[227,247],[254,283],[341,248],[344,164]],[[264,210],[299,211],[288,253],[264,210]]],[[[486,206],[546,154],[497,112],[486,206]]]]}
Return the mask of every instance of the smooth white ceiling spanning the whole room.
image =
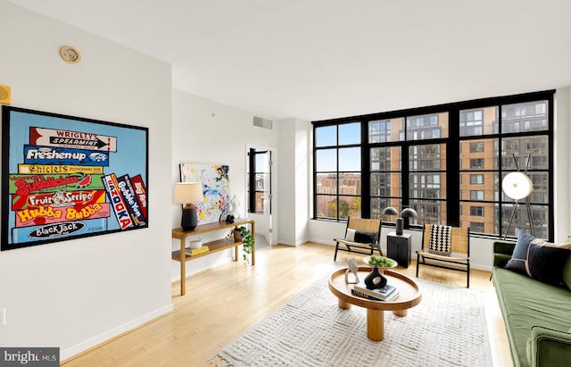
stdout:
{"type": "Polygon", "coordinates": [[[270,119],[571,86],[569,0],[11,1],[171,63],[174,88],[270,119]]]}

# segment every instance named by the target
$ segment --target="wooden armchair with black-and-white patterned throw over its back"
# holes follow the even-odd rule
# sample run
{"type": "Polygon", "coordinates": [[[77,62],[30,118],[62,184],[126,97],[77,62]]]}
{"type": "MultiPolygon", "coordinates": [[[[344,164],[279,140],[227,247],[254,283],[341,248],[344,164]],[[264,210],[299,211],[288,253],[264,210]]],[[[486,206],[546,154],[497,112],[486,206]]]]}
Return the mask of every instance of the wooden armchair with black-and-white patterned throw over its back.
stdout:
{"type": "Polygon", "coordinates": [[[470,229],[426,224],[422,232],[422,248],[417,251],[417,278],[420,265],[466,272],[470,288],[470,229]]]}

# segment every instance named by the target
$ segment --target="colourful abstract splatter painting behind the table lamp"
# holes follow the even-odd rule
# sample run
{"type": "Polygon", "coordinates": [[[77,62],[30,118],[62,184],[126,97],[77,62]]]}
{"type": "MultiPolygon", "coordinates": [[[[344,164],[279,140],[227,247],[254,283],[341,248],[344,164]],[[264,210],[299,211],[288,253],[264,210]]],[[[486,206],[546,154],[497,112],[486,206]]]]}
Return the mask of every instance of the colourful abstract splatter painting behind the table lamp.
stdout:
{"type": "Polygon", "coordinates": [[[181,182],[200,182],[204,199],[195,203],[198,224],[224,221],[230,210],[228,165],[180,164],[181,182]]]}

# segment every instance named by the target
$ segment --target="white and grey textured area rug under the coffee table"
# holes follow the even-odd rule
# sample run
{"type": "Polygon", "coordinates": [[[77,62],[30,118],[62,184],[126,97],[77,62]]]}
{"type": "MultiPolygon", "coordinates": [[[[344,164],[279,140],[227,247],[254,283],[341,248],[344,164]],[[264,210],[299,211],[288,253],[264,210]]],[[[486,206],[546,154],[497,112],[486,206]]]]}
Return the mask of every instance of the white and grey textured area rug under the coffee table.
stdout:
{"type": "Polygon", "coordinates": [[[367,338],[367,312],[343,310],[312,283],[275,313],[225,346],[219,366],[491,366],[479,291],[415,279],[422,301],[406,317],[385,312],[385,340],[367,338]]]}

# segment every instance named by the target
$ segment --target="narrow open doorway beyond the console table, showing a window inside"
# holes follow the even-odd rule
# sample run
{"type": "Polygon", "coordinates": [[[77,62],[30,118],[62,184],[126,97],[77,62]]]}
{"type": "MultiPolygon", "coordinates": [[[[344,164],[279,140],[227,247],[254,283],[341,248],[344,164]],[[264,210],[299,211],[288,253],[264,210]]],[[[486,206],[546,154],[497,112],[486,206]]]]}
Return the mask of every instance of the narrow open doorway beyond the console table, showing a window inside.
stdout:
{"type": "Polygon", "coordinates": [[[256,221],[256,247],[275,245],[275,149],[246,147],[246,213],[256,221]],[[260,245],[260,246],[258,246],[260,245]]]}

